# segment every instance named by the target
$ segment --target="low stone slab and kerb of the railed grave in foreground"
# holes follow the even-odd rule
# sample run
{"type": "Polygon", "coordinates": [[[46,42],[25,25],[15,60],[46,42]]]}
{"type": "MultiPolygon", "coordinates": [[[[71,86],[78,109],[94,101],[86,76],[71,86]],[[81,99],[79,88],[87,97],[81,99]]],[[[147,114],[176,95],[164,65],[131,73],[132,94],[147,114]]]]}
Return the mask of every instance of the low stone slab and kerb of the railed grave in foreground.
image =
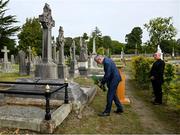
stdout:
{"type": "Polygon", "coordinates": [[[53,133],[71,112],[72,104],[63,104],[51,113],[51,120],[45,120],[45,110],[33,106],[0,107],[0,127],[20,128],[38,131],[41,133],[53,133]],[[16,123],[16,124],[15,124],[16,123]]]}

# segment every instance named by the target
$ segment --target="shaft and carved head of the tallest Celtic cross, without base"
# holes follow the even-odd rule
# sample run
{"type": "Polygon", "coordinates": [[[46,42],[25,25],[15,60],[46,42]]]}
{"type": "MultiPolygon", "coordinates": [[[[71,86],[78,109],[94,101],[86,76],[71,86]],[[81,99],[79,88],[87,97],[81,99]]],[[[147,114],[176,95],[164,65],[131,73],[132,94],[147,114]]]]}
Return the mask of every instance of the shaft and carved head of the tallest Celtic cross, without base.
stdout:
{"type": "Polygon", "coordinates": [[[43,27],[43,47],[42,47],[42,61],[52,61],[52,46],[51,46],[51,29],[55,26],[55,21],[51,16],[50,6],[46,3],[43,8],[43,14],[39,15],[39,21],[43,27]]]}

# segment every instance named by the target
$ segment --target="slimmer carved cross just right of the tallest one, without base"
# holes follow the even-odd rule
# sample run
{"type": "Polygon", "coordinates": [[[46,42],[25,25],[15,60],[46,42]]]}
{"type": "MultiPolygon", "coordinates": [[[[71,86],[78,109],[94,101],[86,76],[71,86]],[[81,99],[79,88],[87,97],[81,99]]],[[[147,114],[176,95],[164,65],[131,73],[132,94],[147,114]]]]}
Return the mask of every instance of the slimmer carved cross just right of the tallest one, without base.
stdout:
{"type": "Polygon", "coordinates": [[[59,35],[57,37],[57,44],[59,47],[59,64],[64,65],[64,30],[63,27],[59,27],[59,35]]]}

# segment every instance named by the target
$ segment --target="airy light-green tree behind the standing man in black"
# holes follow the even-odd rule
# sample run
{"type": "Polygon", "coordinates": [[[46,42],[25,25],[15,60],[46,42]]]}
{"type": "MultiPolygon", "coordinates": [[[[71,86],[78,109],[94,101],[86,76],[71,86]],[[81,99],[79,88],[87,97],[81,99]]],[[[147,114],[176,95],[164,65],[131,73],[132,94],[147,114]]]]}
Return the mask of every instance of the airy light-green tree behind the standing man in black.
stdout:
{"type": "Polygon", "coordinates": [[[172,40],[177,32],[172,23],[172,17],[161,18],[157,17],[144,24],[145,28],[149,32],[150,45],[154,51],[163,40],[172,40]]]}

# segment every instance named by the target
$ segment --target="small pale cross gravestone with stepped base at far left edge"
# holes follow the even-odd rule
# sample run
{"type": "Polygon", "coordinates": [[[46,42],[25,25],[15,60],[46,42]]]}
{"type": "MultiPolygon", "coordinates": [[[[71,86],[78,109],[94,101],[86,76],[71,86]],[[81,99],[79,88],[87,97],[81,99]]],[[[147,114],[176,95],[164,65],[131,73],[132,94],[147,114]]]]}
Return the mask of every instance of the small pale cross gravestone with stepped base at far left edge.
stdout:
{"type": "Polygon", "coordinates": [[[2,71],[3,72],[10,72],[12,70],[11,63],[8,61],[8,52],[7,47],[4,46],[4,49],[1,50],[1,52],[4,52],[4,60],[2,63],[2,71]]]}

